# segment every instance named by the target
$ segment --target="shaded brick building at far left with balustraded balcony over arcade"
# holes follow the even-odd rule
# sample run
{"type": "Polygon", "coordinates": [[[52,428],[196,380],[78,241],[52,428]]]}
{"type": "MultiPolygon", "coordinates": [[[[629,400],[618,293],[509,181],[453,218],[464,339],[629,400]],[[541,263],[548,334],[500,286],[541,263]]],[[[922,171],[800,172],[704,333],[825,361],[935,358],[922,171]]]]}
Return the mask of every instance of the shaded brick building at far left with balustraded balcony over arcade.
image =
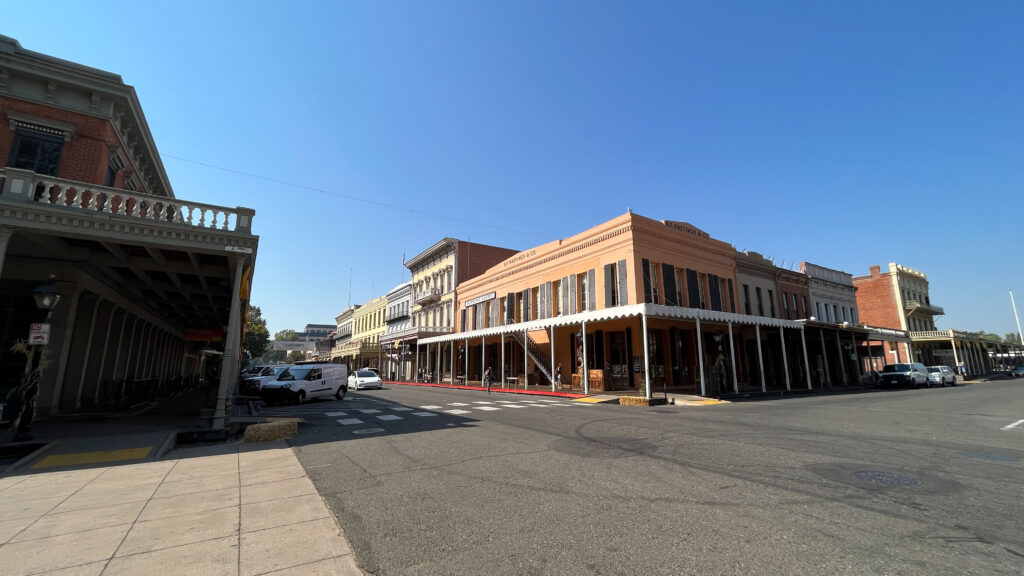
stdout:
{"type": "Polygon", "coordinates": [[[39,412],[126,410],[199,382],[219,384],[223,425],[254,212],[175,196],[120,76],[5,36],[0,121],[0,381],[28,381],[10,348],[44,323],[50,362],[30,368],[39,412]],[[50,275],[61,298],[47,315],[33,292],[50,275]]]}

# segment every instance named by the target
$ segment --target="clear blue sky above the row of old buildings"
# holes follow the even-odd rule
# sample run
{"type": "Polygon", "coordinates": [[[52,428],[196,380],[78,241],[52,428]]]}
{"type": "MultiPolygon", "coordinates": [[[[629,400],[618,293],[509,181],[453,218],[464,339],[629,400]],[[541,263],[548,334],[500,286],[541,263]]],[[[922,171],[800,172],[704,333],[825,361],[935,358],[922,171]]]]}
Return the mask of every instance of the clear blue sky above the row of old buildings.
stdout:
{"type": "Polygon", "coordinates": [[[442,237],[523,249],[628,207],[776,263],[897,261],[940,328],[1016,330],[1020,2],[152,4],[8,5],[0,33],[120,74],[178,197],[256,209],[271,333],[442,237]]]}

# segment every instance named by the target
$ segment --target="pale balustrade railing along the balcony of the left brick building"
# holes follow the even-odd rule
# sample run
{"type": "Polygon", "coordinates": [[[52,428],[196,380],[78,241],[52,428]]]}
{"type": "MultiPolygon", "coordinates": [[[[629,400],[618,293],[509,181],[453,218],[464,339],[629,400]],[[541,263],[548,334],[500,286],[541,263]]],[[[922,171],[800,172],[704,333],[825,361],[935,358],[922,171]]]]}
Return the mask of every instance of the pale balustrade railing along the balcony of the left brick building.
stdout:
{"type": "Polygon", "coordinates": [[[177,198],[89,184],[29,170],[0,168],[0,200],[37,204],[187,225],[219,232],[252,234],[251,208],[228,208],[177,198]]]}

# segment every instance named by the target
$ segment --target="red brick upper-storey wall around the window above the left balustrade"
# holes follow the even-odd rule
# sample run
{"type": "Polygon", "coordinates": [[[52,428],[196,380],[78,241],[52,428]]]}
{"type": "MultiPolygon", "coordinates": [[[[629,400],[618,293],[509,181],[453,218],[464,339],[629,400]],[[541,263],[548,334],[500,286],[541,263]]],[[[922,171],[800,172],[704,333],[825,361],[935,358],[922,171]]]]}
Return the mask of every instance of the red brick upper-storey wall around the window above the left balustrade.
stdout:
{"type": "Polygon", "coordinates": [[[3,123],[0,126],[0,162],[3,166],[6,166],[10,159],[10,147],[14,140],[14,131],[8,127],[6,114],[8,110],[74,124],[75,132],[71,136],[71,141],[65,142],[60,153],[60,169],[57,171],[57,176],[93,184],[103,183],[110,160],[110,147],[118,145],[114,126],[109,120],[41,104],[0,97],[0,113],[2,113],[0,121],[3,123]]]}

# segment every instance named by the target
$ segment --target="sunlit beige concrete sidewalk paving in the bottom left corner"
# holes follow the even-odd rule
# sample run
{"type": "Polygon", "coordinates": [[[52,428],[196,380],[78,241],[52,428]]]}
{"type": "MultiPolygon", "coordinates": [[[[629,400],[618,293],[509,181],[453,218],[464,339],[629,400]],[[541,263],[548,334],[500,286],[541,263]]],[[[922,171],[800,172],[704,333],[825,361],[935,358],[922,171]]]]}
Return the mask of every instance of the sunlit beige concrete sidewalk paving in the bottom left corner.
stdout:
{"type": "Polygon", "coordinates": [[[284,442],[0,478],[5,575],[362,574],[284,442]]]}

